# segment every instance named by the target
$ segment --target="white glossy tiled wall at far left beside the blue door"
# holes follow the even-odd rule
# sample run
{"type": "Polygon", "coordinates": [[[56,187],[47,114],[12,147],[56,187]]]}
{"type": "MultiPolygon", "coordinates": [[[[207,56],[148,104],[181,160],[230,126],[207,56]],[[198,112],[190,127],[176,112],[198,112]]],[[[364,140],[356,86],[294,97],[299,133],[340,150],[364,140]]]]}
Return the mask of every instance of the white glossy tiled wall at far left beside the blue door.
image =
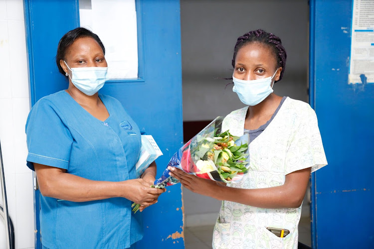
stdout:
{"type": "Polygon", "coordinates": [[[23,1],[0,0],[0,142],[16,249],[34,248],[32,172],[26,167],[24,132],[28,93],[23,1]]]}

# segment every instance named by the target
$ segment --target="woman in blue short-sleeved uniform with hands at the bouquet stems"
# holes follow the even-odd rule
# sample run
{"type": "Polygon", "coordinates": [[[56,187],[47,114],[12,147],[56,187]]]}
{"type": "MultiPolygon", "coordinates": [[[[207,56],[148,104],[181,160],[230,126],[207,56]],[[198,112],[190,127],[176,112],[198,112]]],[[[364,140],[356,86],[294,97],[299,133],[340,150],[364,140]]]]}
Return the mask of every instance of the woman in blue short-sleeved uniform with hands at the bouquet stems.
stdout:
{"type": "Polygon", "coordinates": [[[165,191],[150,187],[155,163],[136,179],[140,130],[118,100],[98,94],[107,79],[104,55],[96,34],[67,32],[56,63],[69,87],[40,99],[27,119],[43,248],[129,248],[143,237],[132,202],[142,211],[165,191]]]}

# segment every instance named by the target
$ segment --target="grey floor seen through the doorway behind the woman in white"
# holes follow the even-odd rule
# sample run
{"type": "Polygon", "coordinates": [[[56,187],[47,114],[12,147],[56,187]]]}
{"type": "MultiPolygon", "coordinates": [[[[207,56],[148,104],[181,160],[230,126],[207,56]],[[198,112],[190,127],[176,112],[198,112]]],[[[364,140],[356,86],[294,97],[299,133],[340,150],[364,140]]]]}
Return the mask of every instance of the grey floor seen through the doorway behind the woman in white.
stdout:
{"type": "MultiPolygon", "coordinates": [[[[185,249],[211,249],[213,226],[186,227],[185,249]]],[[[302,216],[299,223],[299,242],[311,246],[310,217],[302,216]]]]}

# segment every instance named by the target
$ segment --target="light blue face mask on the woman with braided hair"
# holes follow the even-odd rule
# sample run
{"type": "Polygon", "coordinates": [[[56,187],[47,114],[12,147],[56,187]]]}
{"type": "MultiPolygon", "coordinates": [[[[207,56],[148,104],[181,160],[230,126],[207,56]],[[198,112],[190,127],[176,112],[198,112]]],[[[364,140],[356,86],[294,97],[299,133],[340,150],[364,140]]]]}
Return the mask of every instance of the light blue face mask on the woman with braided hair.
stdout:
{"type": "Polygon", "coordinates": [[[273,92],[271,83],[277,71],[278,68],[272,77],[258,80],[239,80],[232,75],[232,81],[234,82],[232,91],[238,95],[240,101],[245,105],[255,106],[273,92]]]}

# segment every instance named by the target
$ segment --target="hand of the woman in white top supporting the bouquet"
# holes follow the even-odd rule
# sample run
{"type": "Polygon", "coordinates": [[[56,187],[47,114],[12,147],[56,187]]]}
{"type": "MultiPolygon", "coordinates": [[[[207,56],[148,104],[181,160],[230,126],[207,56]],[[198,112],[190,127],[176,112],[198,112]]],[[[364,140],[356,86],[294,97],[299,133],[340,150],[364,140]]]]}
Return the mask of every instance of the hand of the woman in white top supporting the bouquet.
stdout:
{"type": "Polygon", "coordinates": [[[188,190],[200,195],[217,198],[217,190],[222,186],[219,183],[187,174],[183,170],[175,167],[168,167],[168,169],[170,170],[170,175],[177,178],[188,190]]]}

